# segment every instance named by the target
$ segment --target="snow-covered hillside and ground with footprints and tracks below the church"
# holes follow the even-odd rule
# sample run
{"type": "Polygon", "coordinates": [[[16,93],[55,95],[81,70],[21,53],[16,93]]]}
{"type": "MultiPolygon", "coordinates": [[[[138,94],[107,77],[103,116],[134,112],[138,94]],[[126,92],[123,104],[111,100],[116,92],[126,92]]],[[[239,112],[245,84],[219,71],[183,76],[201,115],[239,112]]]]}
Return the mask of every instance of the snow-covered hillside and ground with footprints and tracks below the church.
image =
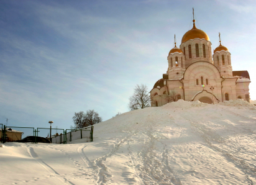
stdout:
{"type": "Polygon", "coordinates": [[[5,143],[0,184],[256,184],[256,107],[172,102],[94,127],[94,142],[5,143]]]}

